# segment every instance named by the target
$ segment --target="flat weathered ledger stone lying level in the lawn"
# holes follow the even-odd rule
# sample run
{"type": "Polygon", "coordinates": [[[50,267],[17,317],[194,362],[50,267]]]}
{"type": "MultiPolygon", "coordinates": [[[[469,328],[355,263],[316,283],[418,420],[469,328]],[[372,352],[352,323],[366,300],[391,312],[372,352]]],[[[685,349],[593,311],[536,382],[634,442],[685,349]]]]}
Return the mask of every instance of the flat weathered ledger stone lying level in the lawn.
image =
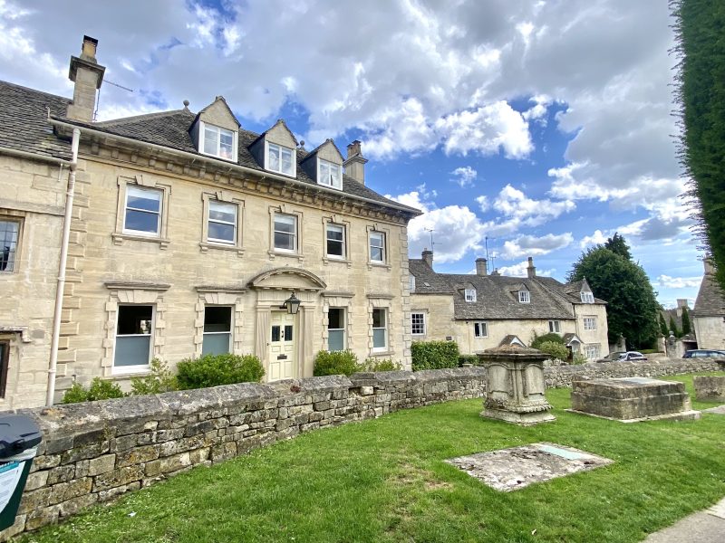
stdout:
{"type": "Polygon", "coordinates": [[[445,462],[497,491],[517,491],[535,482],[594,470],[614,461],[555,443],[532,443],[498,451],[478,452],[445,462]]]}

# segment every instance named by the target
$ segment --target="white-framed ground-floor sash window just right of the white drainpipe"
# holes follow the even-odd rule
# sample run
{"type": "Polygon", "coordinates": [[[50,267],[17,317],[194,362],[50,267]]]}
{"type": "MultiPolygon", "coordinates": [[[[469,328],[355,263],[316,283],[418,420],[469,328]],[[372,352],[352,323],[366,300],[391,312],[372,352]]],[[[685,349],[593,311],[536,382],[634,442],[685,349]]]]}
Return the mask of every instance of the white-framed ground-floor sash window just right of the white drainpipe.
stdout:
{"type": "Polygon", "coordinates": [[[116,325],[116,351],[113,367],[138,371],[149,366],[153,335],[153,306],[119,306],[116,325]]]}

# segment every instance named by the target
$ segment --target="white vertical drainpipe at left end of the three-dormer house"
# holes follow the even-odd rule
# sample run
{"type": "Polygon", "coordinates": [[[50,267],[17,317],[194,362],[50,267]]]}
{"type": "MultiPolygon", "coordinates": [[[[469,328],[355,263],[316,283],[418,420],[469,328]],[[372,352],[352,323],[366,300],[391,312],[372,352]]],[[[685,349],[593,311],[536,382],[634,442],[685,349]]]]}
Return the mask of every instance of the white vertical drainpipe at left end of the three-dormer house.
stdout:
{"type": "Polygon", "coordinates": [[[58,367],[58,343],[61,338],[61,316],[63,313],[63,291],[65,291],[65,264],[68,261],[68,242],[71,237],[71,221],[73,219],[73,195],[75,192],[75,169],[78,167],[78,145],[81,142],[81,130],[73,129],[70,171],[68,172],[68,188],[65,193],[65,213],[63,214],[63,239],[61,241],[61,259],[58,262],[58,288],[55,291],[55,311],[53,312],[53,338],[51,338],[51,360],[48,367],[48,393],[45,405],[53,405],[55,395],[55,373],[58,367]]]}

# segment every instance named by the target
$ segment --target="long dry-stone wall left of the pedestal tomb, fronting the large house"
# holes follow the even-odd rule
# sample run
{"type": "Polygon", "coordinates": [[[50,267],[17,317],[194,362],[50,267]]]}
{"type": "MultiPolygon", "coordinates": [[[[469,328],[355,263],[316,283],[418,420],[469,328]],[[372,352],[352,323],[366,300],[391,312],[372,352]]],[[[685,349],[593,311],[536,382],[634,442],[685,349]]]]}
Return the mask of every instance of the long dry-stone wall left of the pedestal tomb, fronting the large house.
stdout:
{"type": "Polygon", "coordinates": [[[245,383],[24,411],[43,431],[15,524],[40,528],[196,465],[325,426],[483,395],[481,367],[245,383]]]}

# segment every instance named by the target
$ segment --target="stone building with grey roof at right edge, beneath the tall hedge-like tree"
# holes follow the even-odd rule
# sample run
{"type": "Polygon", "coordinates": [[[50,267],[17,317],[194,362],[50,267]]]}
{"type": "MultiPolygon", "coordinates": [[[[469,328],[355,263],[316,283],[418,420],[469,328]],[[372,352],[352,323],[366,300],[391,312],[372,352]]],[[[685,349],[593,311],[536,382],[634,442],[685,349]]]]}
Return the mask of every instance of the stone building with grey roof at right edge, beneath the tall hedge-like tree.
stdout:
{"type": "Polygon", "coordinates": [[[698,348],[725,349],[725,294],[715,281],[715,269],[705,260],[700,291],[691,312],[698,348]]]}

